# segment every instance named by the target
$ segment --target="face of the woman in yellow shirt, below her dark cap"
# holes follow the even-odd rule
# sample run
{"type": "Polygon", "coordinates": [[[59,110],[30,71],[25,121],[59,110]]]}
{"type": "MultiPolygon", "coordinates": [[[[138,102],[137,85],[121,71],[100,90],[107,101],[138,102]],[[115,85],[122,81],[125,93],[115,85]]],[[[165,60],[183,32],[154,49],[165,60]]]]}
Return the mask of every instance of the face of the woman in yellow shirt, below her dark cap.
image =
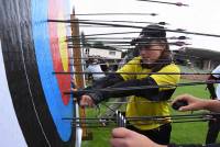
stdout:
{"type": "Polygon", "coordinates": [[[162,55],[165,49],[165,44],[153,41],[147,46],[143,46],[140,49],[140,56],[142,57],[143,64],[153,64],[162,55]]]}

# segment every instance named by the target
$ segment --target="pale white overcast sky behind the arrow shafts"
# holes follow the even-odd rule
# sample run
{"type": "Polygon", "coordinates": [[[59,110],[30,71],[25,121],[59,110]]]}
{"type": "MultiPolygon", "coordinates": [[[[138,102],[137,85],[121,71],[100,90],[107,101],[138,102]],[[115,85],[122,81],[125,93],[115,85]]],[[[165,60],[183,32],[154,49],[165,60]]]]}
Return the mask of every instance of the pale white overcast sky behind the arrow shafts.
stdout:
{"type": "MultiPolygon", "coordinates": [[[[161,0],[165,1],[165,0],[161,0]]],[[[77,15],[79,20],[108,20],[108,21],[142,21],[142,22],[166,22],[165,27],[170,30],[184,29],[189,32],[199,32],[220,35],[220,0],[166,0],[165,2],[182,2],[189,7],[176,7],[169,4],[160,4],[138,0],[73,0],[76,14],[79,13],[157,13],[157,16],[151,15],[105,15],[88,16],[77,15]]],[[[124,23],[120,23],[124,24],[124,23]]],[[[131,24],[146,26],[144,24],[131,24]]],[[[138,31],[140,29],[124,27],[80,27],[85,34],[113,33],[138,31]]],[[[139,34],[113,35],[114,37],[136,37],[139,34]]],[[[187,35],[179,33],[167,33],[169,36],[187,36],[188,47],[198,47],[220,52],[220,37],[208,37],[187,35]]]]}

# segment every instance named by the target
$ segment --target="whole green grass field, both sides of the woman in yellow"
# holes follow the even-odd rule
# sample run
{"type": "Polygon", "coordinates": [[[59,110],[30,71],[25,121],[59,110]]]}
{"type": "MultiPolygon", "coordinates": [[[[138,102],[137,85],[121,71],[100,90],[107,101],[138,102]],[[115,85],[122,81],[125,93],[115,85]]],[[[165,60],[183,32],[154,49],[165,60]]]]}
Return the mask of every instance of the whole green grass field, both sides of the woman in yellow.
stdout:
{"type": "MultiPolygon", "coordinates": [[[[207,99],[209,93],[206,89],[206,86],[190,86],[190,87],[180,87],[177,88],[174,93],[175,98],[182,93],[190,93],[196,97],[207,99]]],[[[101,111],[105,111],[106,108],[101,106],[101,111]]],[[[189,114],[191,112],[183,113],[172,110],[172,114],[189,114]]],[[[96,116],[97,111],[89,109],[87,110],[88,116],[96,116]]],[[[111,128],[101,127],[101,128],[89,128],[92,132],[92,140],[84,140],[82,147],[110,147],[109,138],[111,128]]],[[[207,133],[207,122],[196,122],[196,123],[173,123],[172,131],[172,143],[205,143],[207,133]]],[[[218,137],[218,143],[220,143],[220,135],[218,137]]]]}

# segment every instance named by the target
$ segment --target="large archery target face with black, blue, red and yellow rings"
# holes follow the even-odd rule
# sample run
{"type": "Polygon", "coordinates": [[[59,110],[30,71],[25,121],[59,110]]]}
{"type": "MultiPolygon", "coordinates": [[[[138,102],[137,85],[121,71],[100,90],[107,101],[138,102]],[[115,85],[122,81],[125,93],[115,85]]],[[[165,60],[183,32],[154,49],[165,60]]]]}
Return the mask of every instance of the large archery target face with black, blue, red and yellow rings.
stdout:
{"type": "Polygon", "coordinates": [[[1,81],[8,83],[23,146],[74,145],[75,129],[63,120],[75,116],[74,102],[63,94],[70,90],[70,76],[53,74],[70,71],[65,42],[70,27],[47,22],[70,19],[70,0],[7,0],[0,7],[1,81]]]}

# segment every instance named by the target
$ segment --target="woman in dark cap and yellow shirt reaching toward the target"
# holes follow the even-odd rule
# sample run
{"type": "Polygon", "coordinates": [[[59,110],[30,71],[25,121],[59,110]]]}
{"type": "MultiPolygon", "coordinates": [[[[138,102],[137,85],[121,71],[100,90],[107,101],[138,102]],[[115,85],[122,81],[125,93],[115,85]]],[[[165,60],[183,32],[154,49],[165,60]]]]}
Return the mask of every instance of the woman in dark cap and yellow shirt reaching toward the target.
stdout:
{"type": "MultiPolygon", "coordinates": [[[[139,57],[134,57],[116,74],[109,75],[91,86],[91,91],[80,98],[81,106],[94,106],[109,98],[130,97],[125,116],[169,115],[170,99],[175,87],[160,88],[163,84],[176,84],[180,78],[178,66],[170,60],[169,45],[166,31],[160,25],[147,25],[135,39],[139,57]],[[128,75],[123,72],[135,72],[128,75]],[[142,74],[140,74],[142,72],[142,74]],[[161,72],[161,74],[160,74],[161,72]],[[175,72],[175,75],[163,74],[175,72]],[[130,89],[130,87],[154,86],[151,89],[130,89]],[[92,89],[123,88],[112,91],[97,91],[92,89]]],[[[165,121],[130,121],[129,129],[141,133],[154,142],[167,145],[170,138],[170,120],[165,121]]]]}

